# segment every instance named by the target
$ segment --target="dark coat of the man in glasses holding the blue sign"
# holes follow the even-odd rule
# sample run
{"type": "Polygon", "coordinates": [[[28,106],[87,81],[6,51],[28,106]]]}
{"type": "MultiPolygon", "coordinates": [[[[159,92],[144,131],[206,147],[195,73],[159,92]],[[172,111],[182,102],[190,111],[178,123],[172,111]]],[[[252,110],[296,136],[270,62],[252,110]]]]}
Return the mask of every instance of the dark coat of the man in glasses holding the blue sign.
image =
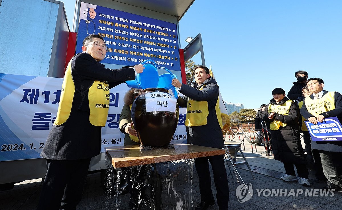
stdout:
{"type": "MultiPolygon", "coordinates": [[[[324,90],[323,96],[327,94],[328,91],[324,90]]],[[[310,96],[311,99],[314,99],[314,94],[310,96]]],[[[323,112],[321,115],[323,115],[325,118],[327,117],[337,117],[342,123],[342,95],[338,92],[335,92],[334,94],[334,102],[335,102],[335,109],[323,112]]],[[[303,115],[305,119],[308,119],[310,117],[313,117],[310,112],[307,111],[305,106],[305,101],[303,103],[302,108],[300,109],[300,113],[303,115]]],[[[312,149],[316,150],[324,150],[324,151],[330,151],[330,152],[342,152],[342,141],[311,141],[311,147],[312,149]]]]}

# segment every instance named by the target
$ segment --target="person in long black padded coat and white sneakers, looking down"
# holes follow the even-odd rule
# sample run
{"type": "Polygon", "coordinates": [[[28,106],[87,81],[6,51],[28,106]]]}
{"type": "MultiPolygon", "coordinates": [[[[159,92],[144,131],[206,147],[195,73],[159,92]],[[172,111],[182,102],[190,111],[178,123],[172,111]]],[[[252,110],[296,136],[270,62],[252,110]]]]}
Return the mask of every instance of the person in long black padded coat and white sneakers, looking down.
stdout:
{"type": "Polygon", "coordinates": [[[267,104],[262,118],[270,123],[274,159],[284,164],[286,175],[281,179],[286,182],[298,181],[303,186],[310,186],[307,180],[309,172],[299,136],[297,105],[285,97],[285,90],[281,88],[275,88],[272,95],[273,99],[267,104]],[[293,164],[297,168],[299,178],[295,176],[293,164]]]}

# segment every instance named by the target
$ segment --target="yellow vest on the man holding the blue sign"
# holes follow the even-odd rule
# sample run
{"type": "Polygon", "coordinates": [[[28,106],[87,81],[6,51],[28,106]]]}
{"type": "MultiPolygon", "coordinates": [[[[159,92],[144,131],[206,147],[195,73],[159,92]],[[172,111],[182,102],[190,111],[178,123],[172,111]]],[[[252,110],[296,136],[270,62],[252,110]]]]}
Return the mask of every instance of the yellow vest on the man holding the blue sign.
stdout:
{"type": "Polygon", "coordinates": [[[307,111],[315,117],[318,117],[320,113],[335,109],[334,95],[335,92],[328,92],[318,99],[311,99],[310,97],[306,97],[304,99],[304,102],[307,111]]]}

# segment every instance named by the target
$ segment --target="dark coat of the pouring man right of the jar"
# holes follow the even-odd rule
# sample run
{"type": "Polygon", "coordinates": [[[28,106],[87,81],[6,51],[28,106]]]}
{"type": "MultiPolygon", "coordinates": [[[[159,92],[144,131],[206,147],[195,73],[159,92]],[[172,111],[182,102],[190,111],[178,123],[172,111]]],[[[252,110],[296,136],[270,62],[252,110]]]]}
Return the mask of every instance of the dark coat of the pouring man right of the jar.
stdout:
{"type": "MultiPolygon", "coordinates": [[[[194,83],[195,88],[182,84],[179,90],[180,93],[191,99],[208,102],[209,114],[207,124],[193,127],[186,126],[187,142],[189,144],[222,149],[224,147],[223,134],[215,111],[216,102],[219,97],[219,86],[212,77],[204,81],[203,85],[206,85],[206,87],[198,90],[201,86],[197,86],[197,83],[194,83]]],[[[178,106],[187,107],[187,97],[179,97],[177,99],[178,106]]]]}

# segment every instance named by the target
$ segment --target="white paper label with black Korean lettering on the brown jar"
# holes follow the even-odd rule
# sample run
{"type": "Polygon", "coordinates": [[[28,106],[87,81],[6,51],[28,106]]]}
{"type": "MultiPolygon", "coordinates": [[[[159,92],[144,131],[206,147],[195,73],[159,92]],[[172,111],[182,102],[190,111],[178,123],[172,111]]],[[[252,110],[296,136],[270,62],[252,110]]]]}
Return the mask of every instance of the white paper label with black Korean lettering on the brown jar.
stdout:
{"type": "Polygon", "coordinates": [[[165,92],[152,92],[145,94],[146,112],[167,111],[176,112],[176,103],[172,95],[165,92]]]}

